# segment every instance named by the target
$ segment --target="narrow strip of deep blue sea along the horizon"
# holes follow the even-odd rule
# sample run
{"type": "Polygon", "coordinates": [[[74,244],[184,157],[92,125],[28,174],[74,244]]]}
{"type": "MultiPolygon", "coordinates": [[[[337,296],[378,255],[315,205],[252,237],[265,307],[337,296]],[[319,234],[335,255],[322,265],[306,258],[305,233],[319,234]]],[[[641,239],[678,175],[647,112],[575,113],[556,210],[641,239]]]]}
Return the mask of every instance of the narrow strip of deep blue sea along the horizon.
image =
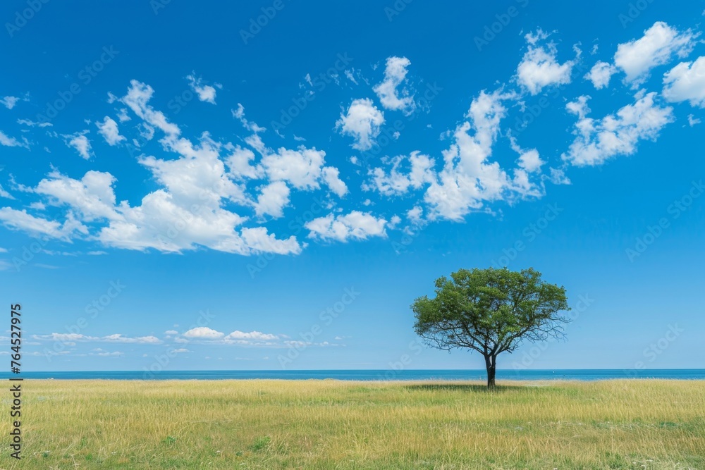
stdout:
{"type": "MultiPolygon", "coordinates": [[[[330,370],[330,371],[64,371],[0,373],[0,378],[112,379],[112,380],[224,380],[276,378],[288,380],[334,379],[338,381],[484,381],[484,370],[330,370]]],[[[497,380],[599,381],[610,378],[670,378],[705,380],[705,369],[556,369],[498,370],[497,380]]]]}

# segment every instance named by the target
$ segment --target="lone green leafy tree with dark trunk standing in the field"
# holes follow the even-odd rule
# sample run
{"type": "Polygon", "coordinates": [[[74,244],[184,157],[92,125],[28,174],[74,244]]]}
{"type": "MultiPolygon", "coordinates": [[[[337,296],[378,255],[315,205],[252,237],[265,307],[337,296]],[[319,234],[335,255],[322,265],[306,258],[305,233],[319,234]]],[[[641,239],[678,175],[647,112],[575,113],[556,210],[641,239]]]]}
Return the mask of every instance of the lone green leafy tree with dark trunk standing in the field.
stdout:
{"type": "Polygon", "coordinates": [[[562,338],[570,321],[559,314],[570,310],[565,289],[541,280],[534,268],[460,269],[436,279],[436,298],[424,295],[411,308],[414,329],[429,346],[484,356],[487,388],[494,388],[498,354],[513,352],[523,340],[562,338]]]}

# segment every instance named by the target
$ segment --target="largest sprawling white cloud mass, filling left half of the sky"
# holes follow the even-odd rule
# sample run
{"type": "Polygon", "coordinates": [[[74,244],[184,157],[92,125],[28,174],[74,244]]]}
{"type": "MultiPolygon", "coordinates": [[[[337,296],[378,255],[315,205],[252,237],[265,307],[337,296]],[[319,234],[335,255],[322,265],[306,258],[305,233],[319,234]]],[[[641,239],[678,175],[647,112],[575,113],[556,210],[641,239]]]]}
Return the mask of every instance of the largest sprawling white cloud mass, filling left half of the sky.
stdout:
{"type": "MultiPolygon", "coordinates": [[[[6,207],[0,211],[0,221],[10,228],[30,233],[44,234],[61,240],[85,235],[106,246],[123,249],[157,249],[161,252],[181,252],[184,249],[208,247],[210,249],[238,254],[271,252],[276,254],[298,254],[302,246],[295,236],[279,240],[264,227],[241,227],[247,216],[235,214],[225,209],[226,204],[238,204],[247,210],[254,209],[256,202],[245,194],[245,184],[240,180],[249,176],[260,178],[269,176],[271,181],[286,180],[302,189],[316,189],[319,181],[325,180],[335,186],[337,175],[333,169],[323,171],[324,152],[300,147],[298,150],[279,149],[270,155],[261,166],[249,166],[251,151],[240,150],[229,142],[215,142],[204,132],[198,144],[179,137],[178,126],[168,122],[161,111],[149,106],[153,90],[140,82],[130,82],[128,93],[119,100],[128,105],[143,122],[165,133],[159,141],[165,151],[178,154],[158,159],[142,155],[138,161],[152,172],[154,180],[161,188],[142,197],[140,205],[130,206],[127,201],[116,201],[110,173],[87,172],[80,180],[69,178],[54,171],[47,175],[35,188],[27,192],[42,194],[54,206],[67,205],[64,221],[50,221],[26,211],[6,207]],[[221,150],[232,151],[226,157],[230,168],[221,159],[221,150]],[[249,153],[249,155],[247,155],[249,153]],[[245,161],[245,165],[241,164],[245,161]],[[240,171],[237,176],[235,173],[240,171]],[[269,175],[267,172],[269,171],[269,175]],[[243,174],[247,173],[247,174],[243,174]],[[325,175],[324,175],[325,173],[325,175]],[[77,220],[77,216],[81,219],[77,220]],[[107,222],[107,225],[94,227],[96,233],[89,235],[87,222],[107,222]]],[[[117,98],[116,98],[117,99],[117,98]]],[[[244,119],[243,113],[240,113],[244,119]]],[[[257,130],[255,124],[248,123],[250,130],[257,130]]],[[[85,131],[87,132],[87,131],[85,131]]],[[[90,151],[90,142],[80,144],[78,135],[64,136],[67,144],[78,143],[78,149],[85,155],[90,151]]],[[[261,142],[261,141],[260,141],[261,142]]],[[[269,149],[260,147],[262,151],[269,149]]],[[[341,182],[342,184],[342,182],[341,182]]],[[[341,187],[337,186],[339,192],[341,187]]],[[[264,204],[264,201],[260,201],[264,204]]],[[[261,205],[262,206],[262,205],[261,205]]]]}

